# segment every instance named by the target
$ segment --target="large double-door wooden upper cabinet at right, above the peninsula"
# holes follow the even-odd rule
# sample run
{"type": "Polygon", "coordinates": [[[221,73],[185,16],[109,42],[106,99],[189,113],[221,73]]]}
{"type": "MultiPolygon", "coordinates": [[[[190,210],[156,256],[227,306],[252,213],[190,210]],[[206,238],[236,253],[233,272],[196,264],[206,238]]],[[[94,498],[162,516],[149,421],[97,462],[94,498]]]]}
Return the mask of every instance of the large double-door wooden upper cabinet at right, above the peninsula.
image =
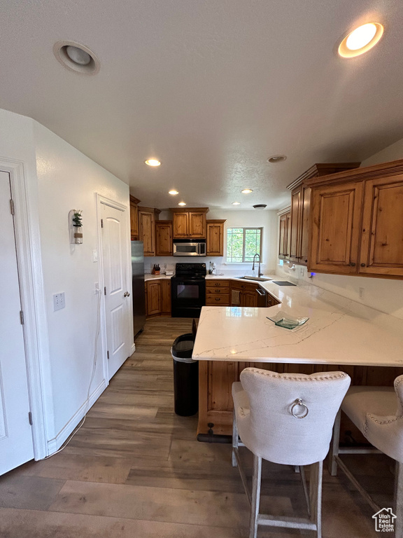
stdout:
{"type": "Polygon", "coordinates": [[[311,179],[309,270],[403,277],[403,160],[311,179]]]}

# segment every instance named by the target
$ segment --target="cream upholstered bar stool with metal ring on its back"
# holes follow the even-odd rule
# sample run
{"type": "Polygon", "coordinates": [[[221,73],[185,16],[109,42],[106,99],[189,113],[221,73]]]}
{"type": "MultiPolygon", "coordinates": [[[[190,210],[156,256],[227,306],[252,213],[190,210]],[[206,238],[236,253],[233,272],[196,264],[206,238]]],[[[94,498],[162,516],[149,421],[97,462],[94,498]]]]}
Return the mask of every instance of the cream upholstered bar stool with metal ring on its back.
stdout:
{"type": "Polygon", "coordinates": [[[305,375],[245,368],[241,382],[232,385],[232,465],[239,467],[250,502],[249,538],[256,538],[257,525],[315,530],[321,538],[323,460],[332,439],[334,418],[350,381],[343,372],[305,375]],[[239,446],[253,453],[251,494],[241,467],[239,446]],[[309,518],[259,513],[262,458],[300,467],[309,518]],[[302,466],[310,464],[308,496],[302,466]]]}

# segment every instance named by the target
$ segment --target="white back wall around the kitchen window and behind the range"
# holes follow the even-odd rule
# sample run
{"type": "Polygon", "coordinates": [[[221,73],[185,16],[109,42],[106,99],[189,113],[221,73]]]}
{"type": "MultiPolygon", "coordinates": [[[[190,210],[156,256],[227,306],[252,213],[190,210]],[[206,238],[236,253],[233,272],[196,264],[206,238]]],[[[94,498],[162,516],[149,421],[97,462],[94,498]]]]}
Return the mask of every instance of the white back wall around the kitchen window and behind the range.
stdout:
{"type": "MultiPolygon", "coordinates": [[[[171,219],[170,212],[162,212],[160,219],[171,219]]],[[[252,227],[263,228],[262,235],[262,270],[266,273],[273,273],[276,267],[276,242],[277,242],[277,218],[274,211],[260,211],[258,209],[253,210],[225,210],[225,209],[213,209],[208,212],[207,219],[226,219],[224,224],[224,252],[227,248],[227,228],[236,227],[252,227]]],[[[146,273],[150,273],[155,263],[160,263],[161,270],[174,270],[176,263],[189,263],[201,262],[206,263],[207,268],[209,262],[215,262],[217,265],[217,274],[224,273],[225,275],[241,275],[250,273],[252,267],[251,263],[225,263],[225,256],[206,256],[205,258],[192,258],[189,257],[174,257],[174,256],[159,256],[159,257],[147,257],[144,260],[144,267],[146,273]]]]}

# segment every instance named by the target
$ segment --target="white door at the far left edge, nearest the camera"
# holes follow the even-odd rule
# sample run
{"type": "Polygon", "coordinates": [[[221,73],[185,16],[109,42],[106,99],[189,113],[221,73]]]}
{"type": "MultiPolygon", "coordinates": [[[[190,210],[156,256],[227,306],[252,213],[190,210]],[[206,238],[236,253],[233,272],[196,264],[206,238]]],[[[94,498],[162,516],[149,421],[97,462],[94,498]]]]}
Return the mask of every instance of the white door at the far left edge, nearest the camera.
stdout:
{"type": "Polygon", "coordinates": [[[0,474],[34,457],[8,172],[0,171],[0,474]]]}

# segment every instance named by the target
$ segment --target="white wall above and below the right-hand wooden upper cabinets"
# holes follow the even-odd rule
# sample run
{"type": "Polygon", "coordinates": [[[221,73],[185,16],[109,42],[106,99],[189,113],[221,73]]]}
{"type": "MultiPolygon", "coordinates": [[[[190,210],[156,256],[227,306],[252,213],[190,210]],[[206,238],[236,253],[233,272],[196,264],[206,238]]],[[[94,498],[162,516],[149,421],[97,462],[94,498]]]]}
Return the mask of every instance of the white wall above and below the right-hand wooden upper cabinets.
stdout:
{"type": "MultiPolygon", "coordinates": [[[[367,158],[361,166],[388,163],[397,159],[403,159],[403,139],[367,158]]],[[[311,280],[306,276],[306,268],[302,265],[296,265],[295,271],[288,270],[287,265],[283,267],[278,265],[277,273],[288,277],[295,283],[309,283],[403,319],[403,280],[323,275],[320,273],[316,273],[311,280]]]]}

